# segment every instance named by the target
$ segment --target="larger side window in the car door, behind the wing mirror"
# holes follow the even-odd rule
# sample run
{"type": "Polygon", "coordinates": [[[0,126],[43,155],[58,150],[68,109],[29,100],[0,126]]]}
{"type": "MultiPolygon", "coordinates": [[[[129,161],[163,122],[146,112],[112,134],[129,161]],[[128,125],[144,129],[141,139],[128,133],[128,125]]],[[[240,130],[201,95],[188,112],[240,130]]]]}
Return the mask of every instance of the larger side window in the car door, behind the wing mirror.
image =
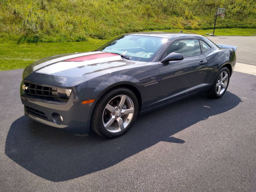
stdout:
{"type": "Polygon", "coordinates": [[[172,52],[181,53],[184,57],[199,55],[201,54],[199,41],[198,39],[183,39],[174,41],[166,50],[164,57],[172,52]]]}

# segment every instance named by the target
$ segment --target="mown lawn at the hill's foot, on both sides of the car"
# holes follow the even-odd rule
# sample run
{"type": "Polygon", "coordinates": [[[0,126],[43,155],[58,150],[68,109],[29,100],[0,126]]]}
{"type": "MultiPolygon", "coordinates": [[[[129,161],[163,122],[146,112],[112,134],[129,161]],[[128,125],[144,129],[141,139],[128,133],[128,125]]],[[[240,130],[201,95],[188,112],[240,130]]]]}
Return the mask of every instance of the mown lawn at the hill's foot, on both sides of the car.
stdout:
{"type": "MultiPolygon", "coordinates": [[[[160,30],[161,31],[161,30],[160,30]]],[[[162,30],[163,31],[163,30],[162,30]]],[[[167,32],[179,32],[180,29],[164,30],[167,32]]],[[[207,30],[183,30],[183,33],[205,34],[212,33],[207,30]]],[[[216,35],[255,36],[256,29],[216,29],[216,35]]],[[[114,37],[113,37],[114,38],[114,37]]],[[[89,38],[87,42],[60,42],[60,43],[22,43],[0,39],[0,71],[25,68],[36,60],[72,52],[92,51],[108,42],[108,40],[89,38]]]]}

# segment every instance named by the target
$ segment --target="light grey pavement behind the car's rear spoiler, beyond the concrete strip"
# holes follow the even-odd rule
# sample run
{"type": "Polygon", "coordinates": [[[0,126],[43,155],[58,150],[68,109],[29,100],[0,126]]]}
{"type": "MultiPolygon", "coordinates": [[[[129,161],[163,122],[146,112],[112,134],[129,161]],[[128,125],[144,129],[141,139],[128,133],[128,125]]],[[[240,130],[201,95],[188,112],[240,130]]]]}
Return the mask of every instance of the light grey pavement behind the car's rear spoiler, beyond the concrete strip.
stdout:
{"type": "Polygon", "coordinates": [[[208,36],[216,44],[237,46],[236,62],[256,65],[256,36],[208,36]]]}

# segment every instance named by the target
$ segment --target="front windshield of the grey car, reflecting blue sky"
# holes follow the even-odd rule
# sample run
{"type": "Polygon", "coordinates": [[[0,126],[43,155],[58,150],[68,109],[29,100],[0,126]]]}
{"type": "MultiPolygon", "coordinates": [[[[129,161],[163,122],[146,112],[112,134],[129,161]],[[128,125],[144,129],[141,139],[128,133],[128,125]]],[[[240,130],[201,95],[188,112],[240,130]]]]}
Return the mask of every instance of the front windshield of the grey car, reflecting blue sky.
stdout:
{"type": "Polygon", "coordinates": [[[126,35],[108,42],[99,50],[126,55],[131,60],[149,62],[166,40],[162,37],[126,35]]]}

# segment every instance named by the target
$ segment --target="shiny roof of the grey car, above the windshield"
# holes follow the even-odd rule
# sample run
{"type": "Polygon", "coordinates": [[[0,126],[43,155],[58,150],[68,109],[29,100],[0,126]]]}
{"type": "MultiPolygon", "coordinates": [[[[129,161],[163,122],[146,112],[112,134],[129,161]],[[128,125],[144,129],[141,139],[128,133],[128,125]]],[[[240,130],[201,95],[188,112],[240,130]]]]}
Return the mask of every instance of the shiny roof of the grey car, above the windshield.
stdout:
{"type": "Polygon", "coordinates": [[[172,36],[177,35],[184,35],[184,36],[200,36],[196,34],[188,34],[188,33],[169,33],[169,32],[161,32],[161,31],[154,31],[154,32],[139,32],[139,33],[128,33],[126,35],[140,35],[140,36],[152,36],[152,37],[163,37],[163,38],[170,38],[172,36]]]}

